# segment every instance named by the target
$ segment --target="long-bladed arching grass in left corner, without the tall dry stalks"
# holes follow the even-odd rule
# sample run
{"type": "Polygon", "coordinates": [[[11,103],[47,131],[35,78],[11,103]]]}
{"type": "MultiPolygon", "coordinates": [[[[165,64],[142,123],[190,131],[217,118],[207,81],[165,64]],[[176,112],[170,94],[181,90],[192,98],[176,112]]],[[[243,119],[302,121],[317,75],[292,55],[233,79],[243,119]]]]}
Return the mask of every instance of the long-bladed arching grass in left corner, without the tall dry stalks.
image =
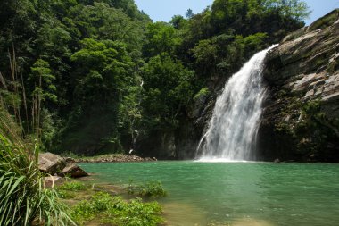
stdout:
{"type": "Polygon", "coordinates": [[[38,149],[0,103],[0,225],[74,225],[54,189],[44,188],[38,149]]]}

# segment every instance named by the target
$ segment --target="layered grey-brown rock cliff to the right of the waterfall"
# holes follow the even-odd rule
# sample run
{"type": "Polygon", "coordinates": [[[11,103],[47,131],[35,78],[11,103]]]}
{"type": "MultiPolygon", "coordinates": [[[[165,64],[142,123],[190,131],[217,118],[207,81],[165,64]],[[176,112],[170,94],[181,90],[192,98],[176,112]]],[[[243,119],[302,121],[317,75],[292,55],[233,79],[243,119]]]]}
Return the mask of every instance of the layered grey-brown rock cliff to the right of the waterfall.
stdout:
{"type": "Polygon", "coordinates": [[[339,9],[284,38],[266,59],[261,159],[339,161],[339,9]]]}

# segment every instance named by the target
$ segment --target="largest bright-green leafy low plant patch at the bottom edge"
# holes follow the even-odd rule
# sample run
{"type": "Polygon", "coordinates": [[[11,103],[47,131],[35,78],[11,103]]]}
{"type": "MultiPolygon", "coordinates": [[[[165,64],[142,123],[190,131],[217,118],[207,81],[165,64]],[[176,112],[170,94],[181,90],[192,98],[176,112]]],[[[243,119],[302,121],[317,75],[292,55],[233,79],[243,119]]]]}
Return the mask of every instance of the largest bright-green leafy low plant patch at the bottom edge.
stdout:
{"type": "Polygon", "coordinates": [[[156,202],[143,203],[140,198],[127,202],[121,197],[98,192],[74,206],[70,215],[79,225],[100,217],[101,222],[113,225],[155,226],[163,222],[161,212],[161,206],[156,202]]]}

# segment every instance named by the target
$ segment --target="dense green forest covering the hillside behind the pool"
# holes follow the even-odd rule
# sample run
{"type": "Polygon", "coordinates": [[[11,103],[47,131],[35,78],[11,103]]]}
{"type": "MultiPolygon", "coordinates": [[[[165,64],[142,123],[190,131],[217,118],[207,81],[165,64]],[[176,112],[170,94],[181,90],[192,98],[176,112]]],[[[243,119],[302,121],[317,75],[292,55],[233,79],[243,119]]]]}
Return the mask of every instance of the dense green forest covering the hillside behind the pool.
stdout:
{"type": "Polygon", "coordinates": [[[177,130],[213,78],[307,13],[298,0],[215,0],[153,22],[133,0],[3,0],[1,99],[46,150],[126,152],[177,130]]]}

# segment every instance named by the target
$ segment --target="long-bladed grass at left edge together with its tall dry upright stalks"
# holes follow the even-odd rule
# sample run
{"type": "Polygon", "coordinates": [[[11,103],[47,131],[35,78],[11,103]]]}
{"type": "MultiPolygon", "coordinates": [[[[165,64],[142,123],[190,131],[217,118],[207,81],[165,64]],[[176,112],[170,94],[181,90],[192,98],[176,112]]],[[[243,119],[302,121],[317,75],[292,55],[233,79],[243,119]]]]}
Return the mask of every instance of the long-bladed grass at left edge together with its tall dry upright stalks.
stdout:
{"type": "MultiPolygon", "coordinates": [[[[18,100],[18,96],[22,96],[29,121],[23,76],[15,52],[9,56],[10,79],[5,80],[0,73],[0,91],[7,95],[0,96],[0,225],[75,225],[65,212],[66,207],[58,201],[56,191],[45,189],[45,177],[37,166],[38,143],[33,146],[25,139],[21,123],[22,103],[18,100]]],[[[41,95],[37,92],[33,100],[32,129],[39,131],[41,95]]]]}

